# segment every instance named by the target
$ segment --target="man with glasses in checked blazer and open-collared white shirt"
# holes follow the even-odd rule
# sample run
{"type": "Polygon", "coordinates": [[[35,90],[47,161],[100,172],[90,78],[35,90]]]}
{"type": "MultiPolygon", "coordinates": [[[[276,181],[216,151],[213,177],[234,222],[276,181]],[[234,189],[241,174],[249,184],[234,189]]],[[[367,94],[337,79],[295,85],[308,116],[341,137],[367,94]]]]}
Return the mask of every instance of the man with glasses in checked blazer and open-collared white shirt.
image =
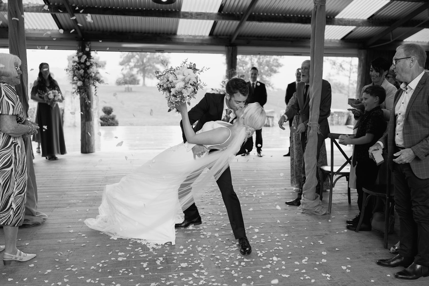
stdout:
{"type": "Polygon", "coordinates": [[[399,215],[399,254],[378,265],[405,266],[396,278],[429,276],[429,75],[426,52],[416,44],[396,48],[391,68],[402,81],[387,132],[369,148],[388,152],[399,215]]]}

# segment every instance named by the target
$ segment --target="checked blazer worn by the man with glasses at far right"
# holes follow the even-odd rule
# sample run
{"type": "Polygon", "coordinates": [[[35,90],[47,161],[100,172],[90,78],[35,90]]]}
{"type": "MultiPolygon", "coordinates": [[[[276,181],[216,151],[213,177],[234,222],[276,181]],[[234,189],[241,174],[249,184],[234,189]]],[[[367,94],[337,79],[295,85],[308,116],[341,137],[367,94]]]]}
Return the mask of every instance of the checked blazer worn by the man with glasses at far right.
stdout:
{"type": "MultiPolygon", "coordinates": [[[[379,140],[385,148],[387,146],[387,162],[389,162],[390,168],[393,168],[391,162],[393,154],[396,153],[395,106],[398,104],[403,92],[402,88],[399,88],[396,92],[387,132],[379,140]]],[[[416,157],[410,163],[414,175],[420,179],[429,178],[429,75],[426,72],[408,102],[402,136],[404,138],[404,147],[411,148],[416,154],[416,157]]]]}

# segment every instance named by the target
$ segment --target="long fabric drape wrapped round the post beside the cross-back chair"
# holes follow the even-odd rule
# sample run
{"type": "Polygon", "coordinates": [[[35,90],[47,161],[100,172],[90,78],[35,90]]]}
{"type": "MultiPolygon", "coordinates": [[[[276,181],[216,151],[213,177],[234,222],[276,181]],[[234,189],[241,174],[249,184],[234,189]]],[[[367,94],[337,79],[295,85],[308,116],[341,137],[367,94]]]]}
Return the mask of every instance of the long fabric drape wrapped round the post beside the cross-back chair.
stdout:
{"type": "Polygon", "coordinates": [[[326,0],[313,0],[311,15],[310,48],[310,119],[308,120],[307,146],[305,148],[305,184],[299,209],[305,213],[326,214],[319,195],[316,194],[317,178],[317,132],[319,131],[320,94],[322,92],[323,45],[325,41],[325,4],[326,0]]]}

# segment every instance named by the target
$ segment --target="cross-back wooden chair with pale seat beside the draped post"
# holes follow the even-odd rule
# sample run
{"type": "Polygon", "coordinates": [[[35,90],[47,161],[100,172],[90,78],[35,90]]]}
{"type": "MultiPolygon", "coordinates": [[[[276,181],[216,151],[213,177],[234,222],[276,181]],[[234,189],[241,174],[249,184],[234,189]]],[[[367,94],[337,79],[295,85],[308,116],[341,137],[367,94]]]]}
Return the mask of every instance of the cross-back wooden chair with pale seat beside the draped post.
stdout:
{"type": "MultiPolygon", "coordinates": [[[[344,153],[343,149],[341,149],[341,146],[338,144],[337,140],[338,137],[341,134],[338,133],[329,133],[328,138],[331,141],[331,163],[329,166],[320,166],[320,171],[322,171],[322,178],[320,180],[320,191],[323,190],[323,182],[326,180],[326,177],[329,177],[329,203],[328,203],[328,213],[331,213],[332,208],[332,189],[335,187],[336,182],[338,179],[345,177],[347,180],[347,196],[348,196],[348,202],[351,203],[350,200],[350,187],[348,186],[349,176],[350,176],[350,164],[351,164],[351,156],[348,157],[347,154],[344,153]],[[341,152],[341,154],[345,158],[345,162],[341,166],[334,166],[334,144],[337,146],[338,150],[341,152]],[[348,166],[347,166],[348,165],[348,166]],[[335,178],[334,176],[338,176],[335,178]]],[[[322,199],[322,196],[320,196],[320,199],[322,199]]]]}

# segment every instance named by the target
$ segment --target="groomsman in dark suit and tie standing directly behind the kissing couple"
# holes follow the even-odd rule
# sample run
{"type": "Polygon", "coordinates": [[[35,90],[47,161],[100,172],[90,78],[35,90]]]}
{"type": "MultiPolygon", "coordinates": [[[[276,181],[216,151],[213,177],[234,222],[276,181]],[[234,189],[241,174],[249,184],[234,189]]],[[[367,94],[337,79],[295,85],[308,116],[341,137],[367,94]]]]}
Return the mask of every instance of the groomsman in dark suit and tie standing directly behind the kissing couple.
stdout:
{"type": "MultiPolygon", "coordinates": [[[[259,104],[263,107],[267,102],[267,90],[265,88],[265,84],[260,81],[257,81],[258,78],[258,69],[254,66],[250,69],[250,81],[247,82],[249,87],[249,96],[247,98],[247,103],[259,102],[259,104]]],[[[256,151],[258,152],[258,157],[262,157],[262,128],[259,130],[255,130],[256,134],[256,151]]],[[[253,137],[249,137],[248,140],[244,144],[244,148],[246,149],[246,154],[250,154],[250,151],[253,149],[253,137]]],[[[242,154],[245,156],[246,154],[242,154]]]]}

